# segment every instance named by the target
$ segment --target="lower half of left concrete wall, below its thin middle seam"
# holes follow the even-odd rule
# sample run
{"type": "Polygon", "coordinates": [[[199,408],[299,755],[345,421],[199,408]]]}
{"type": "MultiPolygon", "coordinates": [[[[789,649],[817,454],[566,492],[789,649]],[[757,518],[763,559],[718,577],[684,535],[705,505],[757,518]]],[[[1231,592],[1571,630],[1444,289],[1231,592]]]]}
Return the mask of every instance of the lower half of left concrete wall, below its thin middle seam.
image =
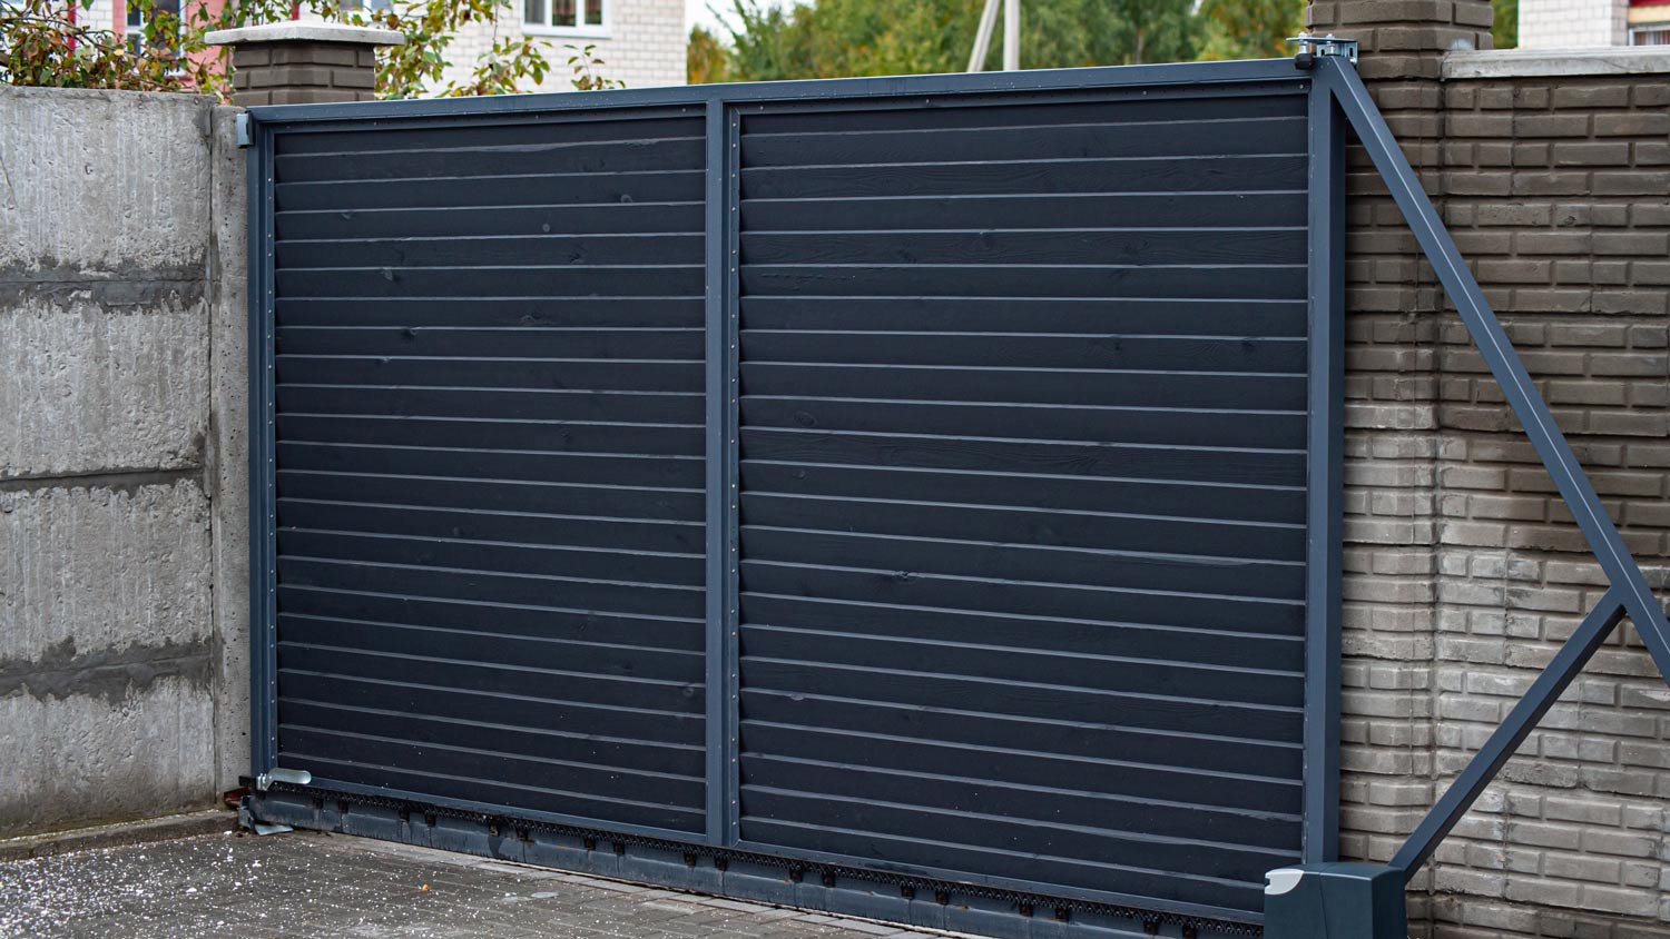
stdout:
{"type": "Polygon", "coordinates": [[[0,492],[0,836],[212,802],[209,500],[0,492]]]}

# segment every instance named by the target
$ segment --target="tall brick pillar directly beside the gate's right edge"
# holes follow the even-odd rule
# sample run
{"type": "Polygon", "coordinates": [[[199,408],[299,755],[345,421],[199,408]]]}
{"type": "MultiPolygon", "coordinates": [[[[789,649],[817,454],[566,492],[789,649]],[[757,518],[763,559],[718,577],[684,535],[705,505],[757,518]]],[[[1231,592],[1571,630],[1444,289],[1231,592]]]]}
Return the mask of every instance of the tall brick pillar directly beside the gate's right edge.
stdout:
{"type": "MultiPolygon", "coordinates": [[[[1306,8],[1309,32],[1361,42],[1359,73],[1435,197],[1443,53],[1490,48],[1491,18],[1488,0],[1318,0],[1306,8]]],[[[1349,155],[1348,198],[1339,829],[1343,857],[1386,861],[1440,796],[1438,330],[1448,305],[1361,152],[1349,155]]],[[[1411,891],[1416,936],[1430,934],[1430,884],[1423,874],[1411,891]]]]}

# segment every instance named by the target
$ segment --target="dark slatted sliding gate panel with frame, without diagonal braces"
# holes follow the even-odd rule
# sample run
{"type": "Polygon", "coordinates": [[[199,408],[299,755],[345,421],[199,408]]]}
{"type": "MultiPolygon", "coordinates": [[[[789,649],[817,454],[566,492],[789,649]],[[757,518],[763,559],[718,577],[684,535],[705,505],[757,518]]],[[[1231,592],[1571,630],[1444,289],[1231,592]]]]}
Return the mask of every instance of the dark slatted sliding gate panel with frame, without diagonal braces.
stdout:
{"type": "Polygon", "coordinates": [[[312,777],[256,812],[1256,929],[1336,841],[1311,115],[1286,60],[254,108],[254,769],[312,777]]]}

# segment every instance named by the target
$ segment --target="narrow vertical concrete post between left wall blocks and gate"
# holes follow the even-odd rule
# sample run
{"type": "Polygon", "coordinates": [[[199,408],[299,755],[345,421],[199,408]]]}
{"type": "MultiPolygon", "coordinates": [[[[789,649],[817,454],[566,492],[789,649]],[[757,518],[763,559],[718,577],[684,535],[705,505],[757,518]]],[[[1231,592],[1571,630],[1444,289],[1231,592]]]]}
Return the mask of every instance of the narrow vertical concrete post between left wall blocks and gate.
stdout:
{"type": "Polygon", "coordinates": [[[249,772],[249,240],[237,108],[214,110],[209,492],[214,544],[215,787],[249,772]]]}

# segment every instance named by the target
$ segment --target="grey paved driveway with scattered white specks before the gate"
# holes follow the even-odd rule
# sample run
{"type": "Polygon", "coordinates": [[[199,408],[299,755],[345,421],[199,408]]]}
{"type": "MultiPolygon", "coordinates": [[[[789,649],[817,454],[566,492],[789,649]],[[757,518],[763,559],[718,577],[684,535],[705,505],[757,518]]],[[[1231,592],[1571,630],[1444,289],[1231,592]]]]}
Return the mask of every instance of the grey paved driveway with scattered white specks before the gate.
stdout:
{"type": "Polygon", "coordinates": [[[0,936],[8,939],[858,934],[929,937],[862,919],[314,832],[199,836],[0,862],[0,936]]]}

